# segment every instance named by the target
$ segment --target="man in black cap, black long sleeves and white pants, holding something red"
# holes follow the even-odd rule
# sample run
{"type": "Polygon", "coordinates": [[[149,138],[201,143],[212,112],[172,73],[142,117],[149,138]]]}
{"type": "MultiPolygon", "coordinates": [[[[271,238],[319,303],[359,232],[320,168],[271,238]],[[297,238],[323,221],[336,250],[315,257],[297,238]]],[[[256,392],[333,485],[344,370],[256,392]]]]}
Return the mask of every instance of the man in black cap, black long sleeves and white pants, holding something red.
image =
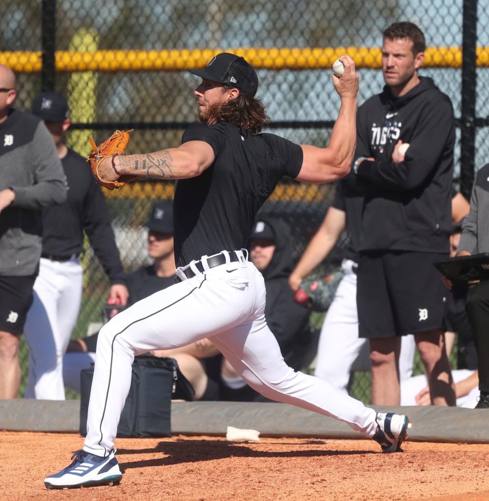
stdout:
{"type": "Polygon", "coordinates": [[[71,125],[66,98],[40,92],[32,113],[44,120],[66,175],[66,201],[42,211],[42,254],[34,283],[34,301],[25,323],[29,374],[25,397],[65,400],[63,355],[82,302],[83,233],[111,280],[110,300],[127,303],[124,269],[119,257],[105,197],[91,175],[86,159],[68,148],[65,133],[71,125]]]}

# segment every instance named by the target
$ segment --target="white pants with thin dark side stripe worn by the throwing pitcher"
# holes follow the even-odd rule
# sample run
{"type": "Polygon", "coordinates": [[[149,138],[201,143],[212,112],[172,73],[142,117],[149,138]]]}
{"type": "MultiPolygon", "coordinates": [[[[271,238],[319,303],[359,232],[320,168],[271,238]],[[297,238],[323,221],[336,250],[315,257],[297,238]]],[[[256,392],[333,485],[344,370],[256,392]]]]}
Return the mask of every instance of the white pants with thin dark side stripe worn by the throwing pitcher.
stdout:
{"type": "MultiPolygon", "coordinates": [[[[239,262],[183,279],[122,311],[99,334],[84,450],[106,456],[114,447],[129,392],[135,355],[187,345],[209,337],[240,376],[265,397],[348,423],[371,437],[376,413],[331,384],[294,372],[280,353],[265,317],[265,285],[241,251],[239,262]]],[[[197,269],[188,265],[194,271],[197,269]]],[[[186,268],[186,267],[185,267],[186,268]]]]}

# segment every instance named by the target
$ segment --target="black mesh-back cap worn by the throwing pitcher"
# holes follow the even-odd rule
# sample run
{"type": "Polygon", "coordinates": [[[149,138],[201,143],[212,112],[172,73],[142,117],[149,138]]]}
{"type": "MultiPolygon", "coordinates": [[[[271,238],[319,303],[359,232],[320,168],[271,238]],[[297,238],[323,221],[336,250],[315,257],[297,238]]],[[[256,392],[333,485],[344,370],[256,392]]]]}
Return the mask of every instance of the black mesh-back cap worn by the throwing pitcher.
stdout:
{"type": "Polygon", "coordinates": [[[229,52],[221,52],[214,56],[204,69],[188,71],[211,82],[236,87],[251,97],[255,97],[258,90],[258,75],[255,68],[244,58],[229,52]]]}

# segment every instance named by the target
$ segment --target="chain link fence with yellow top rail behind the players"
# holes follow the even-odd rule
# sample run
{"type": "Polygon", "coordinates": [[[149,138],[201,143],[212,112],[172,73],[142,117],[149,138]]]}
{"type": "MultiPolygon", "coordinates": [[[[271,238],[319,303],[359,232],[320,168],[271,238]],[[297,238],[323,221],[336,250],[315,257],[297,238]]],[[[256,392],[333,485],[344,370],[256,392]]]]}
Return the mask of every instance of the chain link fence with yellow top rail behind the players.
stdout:
{"type": "MultiPolygon", "coordinates": [[[[453,102],[457,117],[456,184],[470,191],[474,169],[489,154],[485,141],[489,102],[488,14],[477,0],[17,0],[0,5],[0,63],[18,77],[16,107],[29,111],[42,90],[67,96],[73,122],[67,144],[82,155],[88,137],[98,143],[115,128],[134,127],[129,152],[180,143],[196,119],[198,81],[185,71],[205,66],[221,50],[245,56],[260,78],[258,96],[273,122],[266,128],[296,143],[328,144],[339,99],[331,64],[351,55],[361,78],[359,102],[382,90],[382,31],[410,20],[424,31],[428,49],[421,74],[431,76],[453,102]],[[478,9],[477,9],[478,8],[478,9]],[[463,139],[463,140],[462,140],[463,139]]],[[[116,241],[127,271],[147,259],[146,220],[152,201],[171,198],[171,182],[133,183],[105,192],[116,241]]],[[[334,186],[285,180],[262,208],[292,229],[297,259],[320,224],[334,186]]],[[[340,242],[317,274],[339,263],[340,242]]],[[[101,321],[108,280],[89,248],[82,258],[84,295],[73,337],[101,321]]],[[[320,325],[321,318],[314,322],[320,325]]],[[[22,346],[23,374],[26,347],[22,346]]],[[[420,373],[419,361],[415,372],[420,373]]],[[[369,400],[369,375],[357,375],[353,393],[369,400]]],[[[70,396],[70,395],[68,395],[70,396]]],[[[71,395],[72,396],[72,395],[71,395]]]]}

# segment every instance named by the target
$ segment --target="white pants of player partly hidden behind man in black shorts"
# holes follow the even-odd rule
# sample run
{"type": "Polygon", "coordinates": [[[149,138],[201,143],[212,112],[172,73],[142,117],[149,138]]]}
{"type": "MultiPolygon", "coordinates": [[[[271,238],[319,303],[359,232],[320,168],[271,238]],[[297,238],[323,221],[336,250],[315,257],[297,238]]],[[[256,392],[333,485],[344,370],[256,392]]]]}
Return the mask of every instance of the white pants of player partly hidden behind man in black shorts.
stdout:
{"type": "MultiPolygon", "coordinates": [[[[369,371],[370,357],[368,339],[358,337],[356,263],[343,259],[341,266],[345,275],[321,327],[314,376],[347,393],[351,371],[369,371]]],[[[399,356],[401,381],[413,374],[415,350],[414,336],[402,336],[399,356]]]]}

